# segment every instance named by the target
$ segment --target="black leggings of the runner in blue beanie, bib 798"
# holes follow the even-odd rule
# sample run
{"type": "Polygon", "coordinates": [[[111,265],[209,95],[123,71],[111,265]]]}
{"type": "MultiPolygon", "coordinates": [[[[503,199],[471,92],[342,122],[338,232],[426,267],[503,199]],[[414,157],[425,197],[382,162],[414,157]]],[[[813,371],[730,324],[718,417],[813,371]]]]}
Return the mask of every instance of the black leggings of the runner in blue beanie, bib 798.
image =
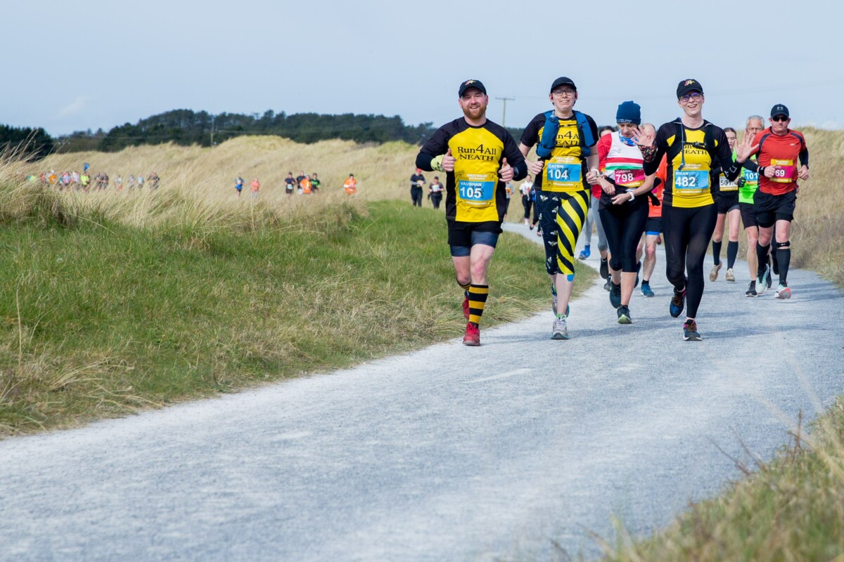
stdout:
{"type": "Polygon", "coordinates": [[[598,210],[609,244],[609,266],[613,270],[636,273],[636,247],[645,232],[647,197],[632,203],[609,204],[598,210]]]}

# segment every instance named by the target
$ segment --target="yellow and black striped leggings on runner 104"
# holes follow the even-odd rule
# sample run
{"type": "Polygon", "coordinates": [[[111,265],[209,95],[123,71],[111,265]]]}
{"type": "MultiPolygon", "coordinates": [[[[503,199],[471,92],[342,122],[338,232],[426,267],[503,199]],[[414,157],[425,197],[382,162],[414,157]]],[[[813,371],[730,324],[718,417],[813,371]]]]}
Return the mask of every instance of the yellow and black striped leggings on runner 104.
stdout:
{"type": "Polygon", "coordinates": [[[589,198],[588,190],[575,193],[537,191],[536,206],[548,275],[562,273],[570,281],[574,280],[575,245],[589,211],[589,198]]]}

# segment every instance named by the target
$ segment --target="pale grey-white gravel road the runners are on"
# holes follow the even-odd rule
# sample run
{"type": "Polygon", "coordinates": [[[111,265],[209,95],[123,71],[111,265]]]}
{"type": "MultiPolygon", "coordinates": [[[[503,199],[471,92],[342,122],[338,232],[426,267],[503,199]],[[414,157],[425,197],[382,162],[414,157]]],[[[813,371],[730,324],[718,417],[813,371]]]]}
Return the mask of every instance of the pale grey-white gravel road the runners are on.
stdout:
{"type": "Polygon", "coordinates": [[[665,525],[738,476],[728,456],[771,458],[798,411],[844,391],[841,292],[794,270],[791,301],[745,298],[736,271],[706,286],[702,342],[668,316],[659,256],[630,326],[596,283],[568,341],[546,312],[482,329],[479,348],[0,442],[0,559],[555,559],[552,539],[598,554],[612,516],[665,525]]]}

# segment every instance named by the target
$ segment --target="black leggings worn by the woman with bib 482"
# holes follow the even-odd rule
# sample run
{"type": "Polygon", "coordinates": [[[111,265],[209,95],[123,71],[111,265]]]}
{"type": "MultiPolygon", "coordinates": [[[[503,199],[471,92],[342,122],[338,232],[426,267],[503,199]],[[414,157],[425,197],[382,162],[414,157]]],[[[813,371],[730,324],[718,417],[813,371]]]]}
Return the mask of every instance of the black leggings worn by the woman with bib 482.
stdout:
{"type": "Polygon", "coordinates": [[[689,318],[695,318],[703,297],[703,259],[717,219],[715,203],[690,209],[663,206],[666,276],[676,291],[686,287],[689,318]]]}

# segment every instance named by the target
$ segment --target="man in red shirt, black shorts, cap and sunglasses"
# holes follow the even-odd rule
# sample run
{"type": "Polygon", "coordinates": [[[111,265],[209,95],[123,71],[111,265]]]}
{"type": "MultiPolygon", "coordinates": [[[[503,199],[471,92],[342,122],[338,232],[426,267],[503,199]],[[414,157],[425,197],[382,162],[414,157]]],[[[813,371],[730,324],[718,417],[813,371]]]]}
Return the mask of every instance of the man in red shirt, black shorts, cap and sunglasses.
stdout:
{"type": "Polygon", "coordinates": [[[794,207],[800,186],[798,179],[809,179],[809,149],[800,131],[788,128],[791,118],[788,108],[776,104],[771,109],[771,126],[756,133],[750,153],[758,153],[757,162],[744,162],[744,168],[759,172],[759,190],[754,196],[754,211],[759,225],[759,241],[756,256],[759,267],[756,273],[756,293],[761,295],[767,289],[771,268],[767,263],[768,244],[774,238],[776,260],[779,262],[780,284],[776,287],[776,298],[791,298],[788,288],[788,265],[791,261],[791,246],[788,231],[794,219],[794,207]],[[776,233],[775,233],[776,227],[776,233]]]}

